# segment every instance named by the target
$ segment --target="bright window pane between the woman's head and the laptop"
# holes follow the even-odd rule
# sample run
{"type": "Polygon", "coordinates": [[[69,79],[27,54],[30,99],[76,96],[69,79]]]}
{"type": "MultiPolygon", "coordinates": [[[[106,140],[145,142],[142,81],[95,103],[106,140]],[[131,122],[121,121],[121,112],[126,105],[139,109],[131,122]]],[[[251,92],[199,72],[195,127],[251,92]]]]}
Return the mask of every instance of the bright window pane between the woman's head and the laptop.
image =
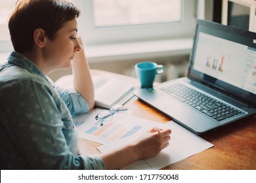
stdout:
{"type": "Polygon", "coordinates": [[[93,0],[95,27],[181,22],[181,0],[93,0]]]}

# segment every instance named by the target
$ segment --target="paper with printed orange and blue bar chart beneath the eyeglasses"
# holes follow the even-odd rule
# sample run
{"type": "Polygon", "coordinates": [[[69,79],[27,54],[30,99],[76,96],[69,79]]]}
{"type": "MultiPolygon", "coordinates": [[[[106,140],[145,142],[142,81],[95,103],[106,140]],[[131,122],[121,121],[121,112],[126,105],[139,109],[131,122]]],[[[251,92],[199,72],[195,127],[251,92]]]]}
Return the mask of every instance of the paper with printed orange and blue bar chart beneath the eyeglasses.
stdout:
{"type": "Polygon", "coordinates": [[[132,111],[129,110],[125,114],[115,113],[111,121],[103,122],[103,125],[100,125],[100,122],[95,120],[95,116],[100,111],[102,110],[94,109],[89,114],[73,118],[79,137],[100,144],[108,144],[122,139],[132,141],[156,125],[156,122],[131,116],[132,111]]]}

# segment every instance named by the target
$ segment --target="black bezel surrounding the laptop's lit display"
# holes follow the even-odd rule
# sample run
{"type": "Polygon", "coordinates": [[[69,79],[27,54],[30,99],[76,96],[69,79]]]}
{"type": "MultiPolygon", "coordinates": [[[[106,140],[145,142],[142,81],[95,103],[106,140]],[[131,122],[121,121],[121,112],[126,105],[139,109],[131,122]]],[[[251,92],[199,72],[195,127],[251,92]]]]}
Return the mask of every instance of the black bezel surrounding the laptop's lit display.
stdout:
{"type": "Polygon", "coordinates": [[[245,44],[251,48],[256,49],[256,44],[253,43],[253,40],[256,39],[256,33],[238,29],[235,27],[230,27],[223,24],[218,24],[215,22],[209,22],[206,20],[198,20],[196,25],[196,33],[194,35],[194,44],[192,52],[190,54],[190,67],[188,69],[188,77],[203,84],[207,84],[210,87],[213,87],[220,92],[224,92],[230,97],[235,97],[236,99],[246,103],[247,105],[252,105],[256,107],[256,95],[254,93],[238,88],[212,76],[200,73],[196,71],[193,67],[194,59],[196,55],[196,46],[198,44],[199,33],[207,33],[209,35],[221,37],[229,41],[239,42],[240,44],[245,44]]]}

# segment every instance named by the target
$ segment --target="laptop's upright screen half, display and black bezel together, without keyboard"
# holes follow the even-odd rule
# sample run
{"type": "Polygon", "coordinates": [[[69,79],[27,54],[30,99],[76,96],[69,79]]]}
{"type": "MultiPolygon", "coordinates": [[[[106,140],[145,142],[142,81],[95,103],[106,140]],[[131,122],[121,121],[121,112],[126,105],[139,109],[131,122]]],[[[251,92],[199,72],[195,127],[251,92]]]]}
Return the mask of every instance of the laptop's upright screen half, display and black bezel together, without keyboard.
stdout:
{"type": "Polygon", "coordinates": [[[190,75],[243,99],[256,96],[256,33],[198,21],[190,75]]]}

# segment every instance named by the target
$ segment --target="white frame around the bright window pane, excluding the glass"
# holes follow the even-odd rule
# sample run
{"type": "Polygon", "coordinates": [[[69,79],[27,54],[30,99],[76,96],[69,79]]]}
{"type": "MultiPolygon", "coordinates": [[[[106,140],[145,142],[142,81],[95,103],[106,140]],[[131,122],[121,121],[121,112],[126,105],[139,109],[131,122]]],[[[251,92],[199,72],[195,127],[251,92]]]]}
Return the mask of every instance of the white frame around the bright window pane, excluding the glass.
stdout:
{"type": "Polygon", "coordinates": [[[181,22],[121,25],[116,27],[94,27],[93,0],[73,1],[81,9],[81,16],[77,20],[78,34],[83,37],[85,45],[177,39],[181,37],[191,38],[194,35],[198,14],[196,11],[198,1],[196,0],[182,0],[181,22]]]}

